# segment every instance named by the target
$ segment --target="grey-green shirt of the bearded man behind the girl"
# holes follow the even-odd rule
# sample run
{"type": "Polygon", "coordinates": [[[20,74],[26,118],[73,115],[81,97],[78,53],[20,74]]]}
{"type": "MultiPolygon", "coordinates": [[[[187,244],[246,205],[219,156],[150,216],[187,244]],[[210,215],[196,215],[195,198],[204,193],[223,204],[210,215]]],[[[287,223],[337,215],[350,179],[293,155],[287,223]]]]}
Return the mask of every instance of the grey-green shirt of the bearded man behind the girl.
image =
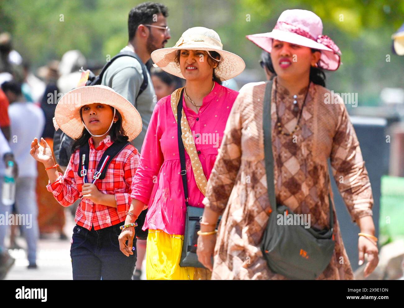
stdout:
{"type": "MultiPolygon", "coordinates": [[[[122,49],[121,52],[122,51],[133,52],[128,46],[122,49]]],[[[101,80],[101,84],[114,89],[117,93],[130,101],[130,103],[136,107],[137,111],[139,111],[143,122],[142,131],[139,136],[131,141],[139,152],[146,135],[147,127],[149,126],[151,114],[157,103],[156,93],[148,71],[147,78],[147,88],[136,99],[140,86],[143,83],[142,66],[135,58],[119,57],[107,68],[101,80]]]]}

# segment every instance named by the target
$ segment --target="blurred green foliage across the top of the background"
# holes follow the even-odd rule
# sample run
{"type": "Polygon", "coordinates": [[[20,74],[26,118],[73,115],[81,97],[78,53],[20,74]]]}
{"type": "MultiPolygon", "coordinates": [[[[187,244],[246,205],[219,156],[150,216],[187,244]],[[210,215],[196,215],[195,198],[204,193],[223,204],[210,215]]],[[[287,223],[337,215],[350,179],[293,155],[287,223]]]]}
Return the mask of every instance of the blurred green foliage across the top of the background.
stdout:
{"type": "MultiPolygon", "coordinates": [[[[126,45],[130,8],[142,1],[70,0],[0,2],[0,30],[13,35],[14,47],[33,68],[79,49],[89,60],[105,62],[126,45]],[[63,17],[63,21],[62,20],[63,17]]],[[[391,34],[404,22],[401,0],[161,0],[169,8],[173,46],[190,27],[217,31],[226,50],[237,53],[246,68],[259,68],[261,50],[247,34],[269,32],[285,9],[302,8],[322,18],[324,34],[342,51],[343,65],[327,73],[335,92],[359,93],[359,105],[375,105],[385,86],[403,87],[404,57],[393,55],[391,34]],[[386,61],[390,55],[390,61],[386,61]]]]}

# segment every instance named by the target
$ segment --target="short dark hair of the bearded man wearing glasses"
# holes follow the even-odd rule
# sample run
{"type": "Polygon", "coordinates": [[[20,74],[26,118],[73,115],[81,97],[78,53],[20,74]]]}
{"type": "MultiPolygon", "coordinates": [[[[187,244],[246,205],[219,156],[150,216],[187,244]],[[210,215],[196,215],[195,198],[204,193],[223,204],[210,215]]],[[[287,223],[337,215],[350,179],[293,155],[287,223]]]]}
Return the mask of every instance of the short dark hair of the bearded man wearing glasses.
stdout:
{"type": "Polygon", "coordinates": [[[128,17],[129,40],[133,40],[139,25],[152,24],[156,21],[153,18],[158,14],[168,17],[167,6],[161,3],[144,2],[132,8],[128,17]]]}

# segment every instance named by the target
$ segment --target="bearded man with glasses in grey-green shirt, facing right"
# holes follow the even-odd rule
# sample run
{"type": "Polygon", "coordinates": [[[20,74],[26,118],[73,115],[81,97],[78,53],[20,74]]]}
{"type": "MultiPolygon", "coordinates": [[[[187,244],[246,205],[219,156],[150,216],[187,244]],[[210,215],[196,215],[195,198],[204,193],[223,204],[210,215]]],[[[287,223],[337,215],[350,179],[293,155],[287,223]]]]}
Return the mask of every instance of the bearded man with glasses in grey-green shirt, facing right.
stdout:
{"type": "Polygon", "coordinates": [[[125,97],[139,111],[143,128],[140,135],[132,141],[139,152],[154,105],[157,103],[150,74],[143,64],[149,61],[153,51],[164,48],[167,40],[170,39],[166,17],[168,17],[168,8],[160,3],[145,2],[132,8],[128,18],[128,45],[120,52],[135,53],[142,63],[133,57],[120,57],[107,68],[101,82],[125,97]],[[144,80],[143,70],[147,73],[147,87],[139,95],[144,80]]]}

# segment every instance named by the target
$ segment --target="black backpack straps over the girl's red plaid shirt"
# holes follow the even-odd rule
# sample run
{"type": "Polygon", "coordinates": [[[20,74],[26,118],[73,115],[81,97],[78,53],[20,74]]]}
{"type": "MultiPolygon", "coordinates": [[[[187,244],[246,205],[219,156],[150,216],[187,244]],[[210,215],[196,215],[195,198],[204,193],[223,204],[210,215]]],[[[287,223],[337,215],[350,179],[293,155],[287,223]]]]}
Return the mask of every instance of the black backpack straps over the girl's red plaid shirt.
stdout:
{"type": "MultiPolygon", "coordinates": [[[[95,171],[92,180],[93,184],[95,183],[95,181],[97,181],[97,179],[105,178],[109,163],[129,143],[130,143],[129,141],[114,142],[111,146],[107,148],[107,150],[105,150],[105,152],[101,156],[100,161],[97,164],[97,170],[95,171]]],[[[90,155],[90,146],[88,145],[88,143],[86,143],[84,146],[80,147],[80,164],[78,167],[78,176],[84,177],[84,183],[88,183],[87,172],[88,172],[89,155],[90,155]]]]}

